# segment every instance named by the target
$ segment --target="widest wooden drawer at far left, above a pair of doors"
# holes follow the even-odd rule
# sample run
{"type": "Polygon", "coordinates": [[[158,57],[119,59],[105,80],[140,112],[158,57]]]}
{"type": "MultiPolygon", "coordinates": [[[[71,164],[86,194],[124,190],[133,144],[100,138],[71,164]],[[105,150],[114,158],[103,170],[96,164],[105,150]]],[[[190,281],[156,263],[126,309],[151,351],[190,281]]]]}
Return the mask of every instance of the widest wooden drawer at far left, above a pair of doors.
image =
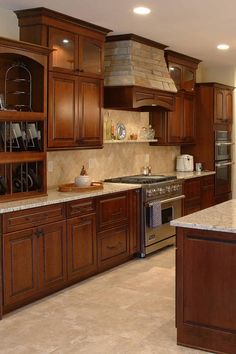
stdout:
{"type": "Polygon", "coordinates": [[[8,233],[32,226],[48,224],[65,218],[63,203],[26,209],[3,215],[3,232],[8,233]]]}

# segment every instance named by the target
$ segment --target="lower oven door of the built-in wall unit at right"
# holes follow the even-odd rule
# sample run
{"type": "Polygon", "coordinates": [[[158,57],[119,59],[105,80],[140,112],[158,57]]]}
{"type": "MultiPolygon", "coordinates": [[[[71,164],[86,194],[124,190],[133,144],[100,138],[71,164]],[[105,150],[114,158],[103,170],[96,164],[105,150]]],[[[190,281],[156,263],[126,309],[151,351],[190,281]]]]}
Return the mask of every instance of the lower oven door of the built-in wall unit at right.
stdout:
{"type": "Polygon", "coordinates": [[[221,161],[215,164],[215,194],[231,192],[231,168],[233,162],[221,161]]]}

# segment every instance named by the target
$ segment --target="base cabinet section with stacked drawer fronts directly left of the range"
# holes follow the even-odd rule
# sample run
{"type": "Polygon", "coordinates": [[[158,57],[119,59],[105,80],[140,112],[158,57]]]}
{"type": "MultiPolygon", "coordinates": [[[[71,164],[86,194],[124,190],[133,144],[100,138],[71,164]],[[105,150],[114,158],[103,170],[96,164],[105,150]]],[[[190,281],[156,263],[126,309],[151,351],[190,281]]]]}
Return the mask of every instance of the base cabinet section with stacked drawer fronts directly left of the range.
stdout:
{"type": "Polygon", "coordinates": [[[105,270],[133,257],[140,247],[139,193],[132,191],[98,198],[98,269],[105,270]],[[133,206],[133,207],[132,207],[133,206]]]}

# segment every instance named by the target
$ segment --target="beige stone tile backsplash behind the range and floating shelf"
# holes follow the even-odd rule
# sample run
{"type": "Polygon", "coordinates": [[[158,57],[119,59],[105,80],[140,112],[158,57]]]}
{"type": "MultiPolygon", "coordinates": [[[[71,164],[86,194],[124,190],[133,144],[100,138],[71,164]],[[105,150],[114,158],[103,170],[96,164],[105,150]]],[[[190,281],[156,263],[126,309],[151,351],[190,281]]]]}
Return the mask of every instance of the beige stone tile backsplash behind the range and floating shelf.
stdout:
{"type": "MultiPolygon", "coordinates": [[[[104,121],[123,123],[127,136],[148,126],[148,113],[104,110],[104,121]]],[[[111,143],[103,149],[48,152],[48,187],[73,182],[84,165],[93,181],[109,177],[139,174],[144,165],[154,173],[175,170],[180,153],[176,146],[149,146],[148,143],[111,143]]]]}

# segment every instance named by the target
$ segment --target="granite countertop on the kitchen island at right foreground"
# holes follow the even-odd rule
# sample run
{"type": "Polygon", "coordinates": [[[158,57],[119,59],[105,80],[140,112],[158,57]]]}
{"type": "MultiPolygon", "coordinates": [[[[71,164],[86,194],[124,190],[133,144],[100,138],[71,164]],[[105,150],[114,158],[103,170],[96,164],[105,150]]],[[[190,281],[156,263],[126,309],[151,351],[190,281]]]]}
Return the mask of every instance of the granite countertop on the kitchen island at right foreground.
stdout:
{"type": "Polygon", "coordinates": [[[210,231],[236,232],[236,199],[172,220],[172,226],[210,231]]]}

